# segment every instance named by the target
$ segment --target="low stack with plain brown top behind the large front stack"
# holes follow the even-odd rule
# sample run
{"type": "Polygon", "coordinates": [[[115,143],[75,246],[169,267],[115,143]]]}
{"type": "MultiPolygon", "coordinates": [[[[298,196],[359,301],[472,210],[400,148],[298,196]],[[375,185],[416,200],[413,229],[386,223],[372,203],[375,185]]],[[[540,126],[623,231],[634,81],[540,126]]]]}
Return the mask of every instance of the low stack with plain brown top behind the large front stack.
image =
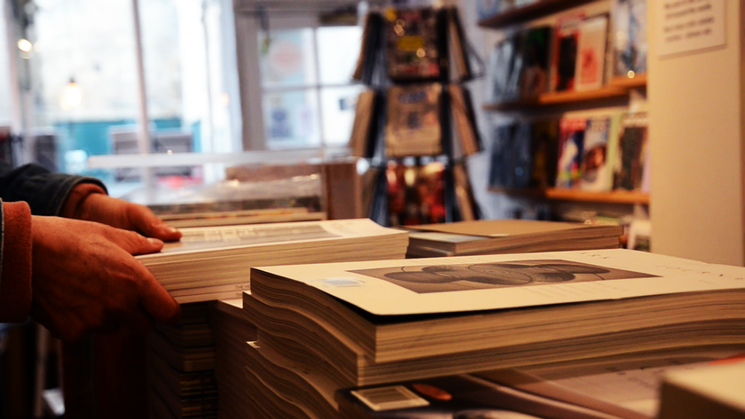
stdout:
{"type": "Polygon", "coordinates": [[[409,258],[614,249],[623,227],[531,220],[460,221],[409,227],[409,258]]]}

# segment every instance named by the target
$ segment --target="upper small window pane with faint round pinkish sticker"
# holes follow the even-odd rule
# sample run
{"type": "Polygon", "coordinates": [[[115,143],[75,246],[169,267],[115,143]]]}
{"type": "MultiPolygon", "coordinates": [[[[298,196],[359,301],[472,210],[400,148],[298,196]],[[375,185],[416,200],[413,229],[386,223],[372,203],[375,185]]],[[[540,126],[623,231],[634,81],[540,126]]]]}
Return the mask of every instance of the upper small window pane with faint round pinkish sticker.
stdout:
{"type": "Polygon", "coordinates": [[[276,30],[258,38],[263,88],[317,82],[313,29],[276,30]]]}

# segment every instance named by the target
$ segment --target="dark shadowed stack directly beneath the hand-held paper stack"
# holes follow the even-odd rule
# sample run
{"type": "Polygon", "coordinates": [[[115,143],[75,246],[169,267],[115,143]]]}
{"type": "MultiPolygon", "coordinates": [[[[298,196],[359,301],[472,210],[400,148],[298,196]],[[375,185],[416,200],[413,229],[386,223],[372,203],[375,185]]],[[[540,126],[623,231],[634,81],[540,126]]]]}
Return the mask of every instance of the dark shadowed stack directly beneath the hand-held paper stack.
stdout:
{"type": "Polygon", "coordinates": [[[205,303],[182,305],[175,325],[148,336],[148,402],[153,417],[217,417],[215,338],[205,303]]]}

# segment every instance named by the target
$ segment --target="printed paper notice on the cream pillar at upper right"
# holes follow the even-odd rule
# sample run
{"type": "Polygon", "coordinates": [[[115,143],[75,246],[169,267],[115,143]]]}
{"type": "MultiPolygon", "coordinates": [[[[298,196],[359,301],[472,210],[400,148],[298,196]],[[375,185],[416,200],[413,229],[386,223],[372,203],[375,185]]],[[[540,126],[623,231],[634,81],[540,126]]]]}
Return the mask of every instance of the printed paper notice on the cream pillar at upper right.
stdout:
{"type": "Polygon", "coordinates": [[[725,0],[661,0],[657,8],[659,55],[725,44],[725,0]]]}

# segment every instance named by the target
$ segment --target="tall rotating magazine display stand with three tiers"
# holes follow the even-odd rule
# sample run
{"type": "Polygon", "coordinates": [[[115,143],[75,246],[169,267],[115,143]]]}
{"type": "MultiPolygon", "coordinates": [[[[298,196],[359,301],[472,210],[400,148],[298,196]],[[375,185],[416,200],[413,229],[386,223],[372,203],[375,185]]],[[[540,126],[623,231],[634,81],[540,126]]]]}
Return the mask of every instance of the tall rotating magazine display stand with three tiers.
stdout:
{"type": "Polygon", "coordinates": [[[464,82],[482,67],[455,7],[386,9],[365,17],[353,78],[360,94],[349,142],[372,170],[370,218],[406,226],[481,218],[467,157],[482,151],[464,82]],[[373,186],[374,185],[374,186],[373,186]]]}

